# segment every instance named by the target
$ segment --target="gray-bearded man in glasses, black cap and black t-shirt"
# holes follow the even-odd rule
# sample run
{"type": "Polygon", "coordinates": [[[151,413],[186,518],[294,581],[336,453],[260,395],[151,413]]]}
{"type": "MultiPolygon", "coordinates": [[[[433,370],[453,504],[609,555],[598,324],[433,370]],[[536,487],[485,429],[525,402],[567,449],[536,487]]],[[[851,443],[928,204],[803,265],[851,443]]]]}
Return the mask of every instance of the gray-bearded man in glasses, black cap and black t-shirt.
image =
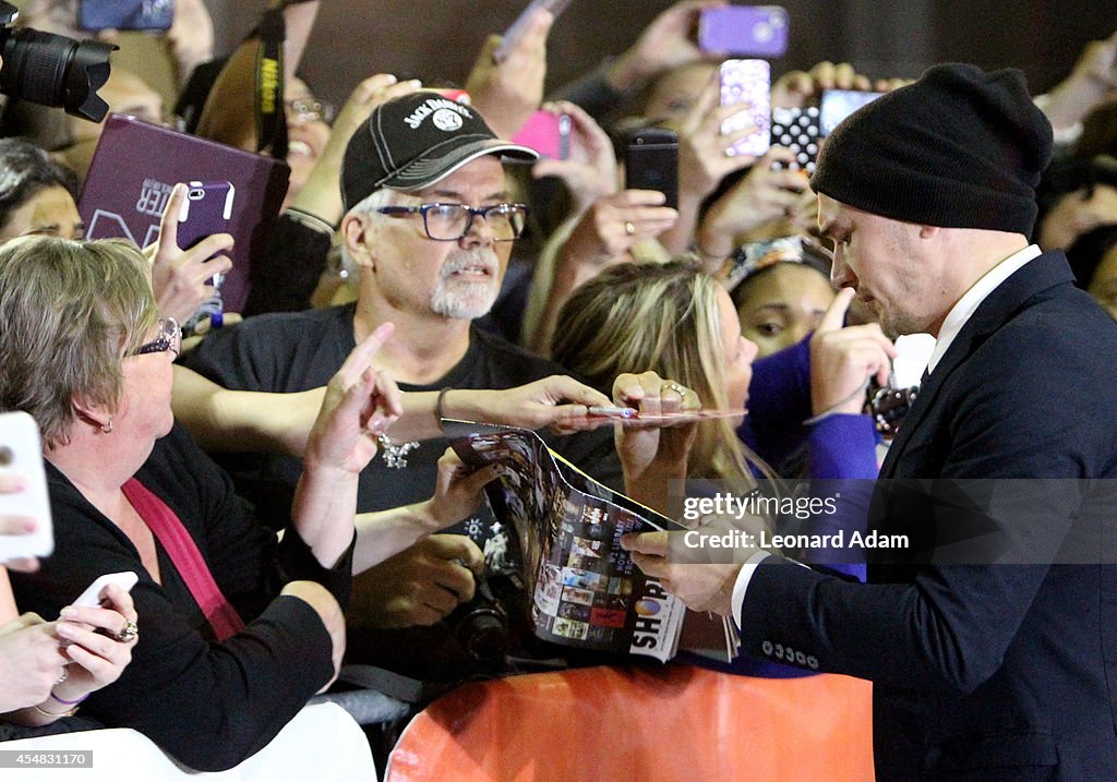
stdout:
{"type": "MultiPolygon", "coordinates": [[[[438,93],[382,104],[350,141],[342,170],[343,251],[360,269],[357,301],[248,318],[207,337],[181,363],[227,389],[305,391],[324,385],[356,342],[392,322],[395,332],[376,369],[404,391],[508,389],[565,374],[474,324],[496,301],[527,211],[509,202],[502,161],[535,158],[438,93]]],[[[452,400],[451,391],[451,407],[452,400]]],[[[175,407],[182,403],[189,401],[176,395],[175,407]]],[[[551,446],[599,480],[620,485],[608,429],[552,437],[551,446]]],[[[382,448],[361,476],[357,511],[429,497],[445,448],[442,439],[382,448]]],[[[296,459],[239,454],[219,460],[260,517],[286,518],[296,459]]],[[[506,533],[491,521],[483,507],[450,534],[432,535],[357,576],[350,659],[429,681],[478,673],[484,666],[455,637],[457,614],[441,620],[472,598],[486,543],[490,551],[515,550],[514,540],[495,540],[506,533]]]]}

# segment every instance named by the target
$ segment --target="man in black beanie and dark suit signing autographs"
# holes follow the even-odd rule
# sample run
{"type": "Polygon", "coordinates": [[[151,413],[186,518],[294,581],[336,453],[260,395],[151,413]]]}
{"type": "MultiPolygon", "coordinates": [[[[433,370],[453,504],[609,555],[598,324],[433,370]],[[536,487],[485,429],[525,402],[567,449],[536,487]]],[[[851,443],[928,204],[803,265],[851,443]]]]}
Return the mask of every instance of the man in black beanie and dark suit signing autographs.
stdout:
{"type": "Polygon", "coordinates": [[[879,481],[870,530],[992,523],[1000,556],[876,552],[860,584],[757,552],[710,579],[631,542],[693,608],[732,613],[744,654],[871,679],[881,781],[1117,780],[1114,541],[1063,537],[1082,479],[1117,477],[1117,324],[1028,242],[1050,151],[1020,71],[943,65],[839,125],[811,182],[833,283],[890,336],[938,338],[881,477],[987,492],[963,516],[879,481]]]}

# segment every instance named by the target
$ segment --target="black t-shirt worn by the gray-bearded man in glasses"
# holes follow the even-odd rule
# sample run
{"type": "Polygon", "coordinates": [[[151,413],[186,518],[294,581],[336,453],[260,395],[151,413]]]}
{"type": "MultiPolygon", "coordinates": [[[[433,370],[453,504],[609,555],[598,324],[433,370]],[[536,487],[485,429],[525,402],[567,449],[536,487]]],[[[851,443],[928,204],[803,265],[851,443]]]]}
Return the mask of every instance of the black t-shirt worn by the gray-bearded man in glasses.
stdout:
{"type": "MultiPolygon", "coordinates": [[[[244,323],[211,334],[182,359],[190,369],[228,389],[294,392],[325,385],[355,346],[354,304],[300,313],[275,313],[251,317],[244,323]]],[[[404,391],[433,391],[442,388],[507,389],[552,374],[569,374],[558,364],[526,353],[480,328],[470,330],[469,350],[447,374],[430,385],[401,383],[404,391]]],[[[602,428],[567,437],[542,432],[548,445],[582,471],[611,487],[623,479],[613,448],[612,430],[602,428]]],[[[438,459],[446,450],[442,438],[428,440],[407,455],[407,467],[390,468],[378,455],[361,475],[357,511],[370,512],[420,502],[435,490],[438,459]]],[[[257,454],[227,455],[223,466],[232,474],[238,493],[251,499],[262,518],[285,522],[299,475],[299,461],[284,456],[257,454]]],[[[499,598],[509,616],[510,643],[524,659],[562,657],[573,659],[570,650],[553,649],[536,642],[525,626],[525,595],[507,588],[507,574],[516,570],[518,545],[508,531],[494,531],[491,511],[484,503],[470,518],[446,530],[466,534],[481,551],[506,552],[504,564],[487,557],[489,582],[504,585],[499,598]],[[497,538],[500,540],[497,540],[497,538]],[[488,545],[486,545],[488,543],[488,545]],[[497,565],[494,568],[494,565],[497,565]],[[502,575],[495,576],[494,573],[502,575]]],[[[357,579],[360,591],[369,579],[379,578],[373,568],[357,579]]],[[[514,576],[512,576],[514,578],[514,576]]],[[[496,586],[494,586],[496,588],[496,586]]],[[[490,662],[471,659],[460,647],[462,617],[476,605],[459,608],[455,614],[432,627],[375,630],[362,627],[360,618],[350,619],[346,658],[372,662],[429,683],[456,683],[474,676],[500,673],[490,662]]],[[[531,670],[523,662],[521,669],[531,670]]],[[[565,665],[565,662],[562,662],[565,665]]],[[[438,692],[435,689],[433,692],[438,692]]]]}

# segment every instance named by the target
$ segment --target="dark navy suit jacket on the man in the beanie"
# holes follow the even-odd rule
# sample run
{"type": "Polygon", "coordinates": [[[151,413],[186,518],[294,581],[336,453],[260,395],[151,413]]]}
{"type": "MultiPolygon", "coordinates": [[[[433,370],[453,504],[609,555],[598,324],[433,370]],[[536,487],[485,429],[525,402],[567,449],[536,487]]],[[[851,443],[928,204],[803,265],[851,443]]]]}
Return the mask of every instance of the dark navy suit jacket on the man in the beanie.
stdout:
{"type": "MultiPolygon", "coordinates": [[[[981,304],[884,478],[1117,477],[1117,324],[1071,280],[1044,254],[981,304]]],[[[1117,568],[892,565],[869,581],[768,557],[742,642],[871,679],[879,780],[1117,780],[1117,568]]]]}

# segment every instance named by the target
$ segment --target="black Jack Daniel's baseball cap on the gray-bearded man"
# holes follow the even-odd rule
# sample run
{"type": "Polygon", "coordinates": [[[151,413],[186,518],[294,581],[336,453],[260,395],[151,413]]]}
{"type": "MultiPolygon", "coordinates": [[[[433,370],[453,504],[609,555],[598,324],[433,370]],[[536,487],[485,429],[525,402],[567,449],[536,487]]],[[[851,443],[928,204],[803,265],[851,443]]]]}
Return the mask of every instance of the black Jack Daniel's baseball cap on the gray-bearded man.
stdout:
{"type": "Polygon", "coordinates": [[[535,161],[526,146],[497,139],[475,108],[420,90],[373,109],[345,149],[342,199],[351,209],[381,188],[421,190],[483,155],[535,161]]]}

